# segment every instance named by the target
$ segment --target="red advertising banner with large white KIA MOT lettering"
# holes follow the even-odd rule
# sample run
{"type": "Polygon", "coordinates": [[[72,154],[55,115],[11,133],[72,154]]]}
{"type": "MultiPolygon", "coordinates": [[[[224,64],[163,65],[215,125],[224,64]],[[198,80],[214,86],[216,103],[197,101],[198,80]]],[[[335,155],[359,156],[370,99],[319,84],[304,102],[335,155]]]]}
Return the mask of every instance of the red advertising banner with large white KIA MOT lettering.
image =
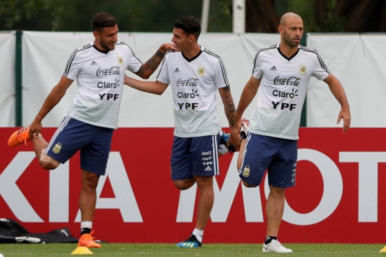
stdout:
{"type": "MultiPolygon", "coordinates": [[[[79,155],[43,170],[32,144],[7,146],[15,128],[1,128],[0,218],[31,233],[68,227],[78,236],[79,155]]],[[[54,128],[44,128],[48,140],[54,128]]],[[[98,187],[93,228],[109,242],[185,239],[196,221],[197,190],[179,191],[170,180],[172,128],[115,131],[98,187]]],[[[282,242],[384,243],[386,229],[386,129],[301,128],[296,186],[286,190],[282,242]]],[[[267,181],[241,185],[238,153],[220,158],[215,203],[206,243],[262,243],[267,181]]]]}

